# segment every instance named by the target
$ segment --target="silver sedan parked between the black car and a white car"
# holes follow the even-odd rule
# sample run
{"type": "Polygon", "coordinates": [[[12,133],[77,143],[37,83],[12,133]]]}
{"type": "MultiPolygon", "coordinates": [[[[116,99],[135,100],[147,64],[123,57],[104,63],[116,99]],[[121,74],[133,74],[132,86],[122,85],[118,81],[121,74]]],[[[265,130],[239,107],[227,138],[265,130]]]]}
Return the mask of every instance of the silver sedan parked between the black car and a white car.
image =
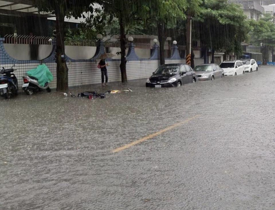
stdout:
{"type": "Polygon", "coordinates": [[[201,64],[194,68],[197,80],[214,80],[217,78],[223,78],[223,69],[217,64],[201,64]]]}

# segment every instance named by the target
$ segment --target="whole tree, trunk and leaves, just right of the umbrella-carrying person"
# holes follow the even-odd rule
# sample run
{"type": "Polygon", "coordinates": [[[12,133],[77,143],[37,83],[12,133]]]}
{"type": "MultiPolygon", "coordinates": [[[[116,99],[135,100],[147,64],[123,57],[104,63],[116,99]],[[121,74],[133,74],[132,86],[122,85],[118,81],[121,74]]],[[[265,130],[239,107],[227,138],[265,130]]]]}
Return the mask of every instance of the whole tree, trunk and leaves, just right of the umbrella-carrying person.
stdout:
{"type": "Polygon", "coordinates": [[[109,15],[110,20],[117,18],[119,22],[120,34],[120,71],[121,82],[127,82],[126,74],[126,28],[140,21],[145,15],[146,8],[143,6],[146,0],[101,0],[99,4],[102,6],[105,15],[109,15]]]}

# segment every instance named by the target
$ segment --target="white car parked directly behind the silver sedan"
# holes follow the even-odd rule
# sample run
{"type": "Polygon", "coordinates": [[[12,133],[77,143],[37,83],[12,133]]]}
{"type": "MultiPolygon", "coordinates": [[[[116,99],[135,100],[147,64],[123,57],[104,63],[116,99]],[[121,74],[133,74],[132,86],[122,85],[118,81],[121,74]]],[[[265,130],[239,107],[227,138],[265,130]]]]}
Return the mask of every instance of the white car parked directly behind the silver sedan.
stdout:
{"type": "Polygon", "coordinates": [[[225,76],[244,74],[245,69],[242,61],[224,61],[220,64],[225,76]]]}

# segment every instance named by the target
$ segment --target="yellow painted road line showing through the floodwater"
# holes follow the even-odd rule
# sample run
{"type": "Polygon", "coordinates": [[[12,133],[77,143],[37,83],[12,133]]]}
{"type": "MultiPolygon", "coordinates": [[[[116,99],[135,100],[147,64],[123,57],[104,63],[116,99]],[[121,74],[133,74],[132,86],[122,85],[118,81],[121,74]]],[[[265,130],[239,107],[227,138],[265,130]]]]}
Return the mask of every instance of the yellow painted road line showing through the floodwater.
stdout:
{"type": "Polygon", "coordinates": [[[116,152],[120,152],[120,151],[122,151],[122,150],[128,149],[129,147],[132,147],[132,146],[134,146],[134,145],[140,144],[140,143],[142,143],[142,142],[144,142],[144,141],[146,141],[146,140],[148,140],[148,139],[152,139],[152,138],[154,138],[154,137],[156,137],[156,136],[158,136],[158,135],[160,135],[160,134],[162,134],[162,133],[164,133],[164,132],[166,132],[166,131],[170,131],[170,130],[172,130],[173,128],[176,128],[176,127],[178,127],[178,126],[180,126],[180,125],[182,125],[182,124],[188,123],[190,120],[193,120],[193,119],[195,119],[195,118],[197,118],[197,117],[199,117],[199,116],[200,116],[200,115],[196,115],[196,116],[187,118],[186,120],[184,120],[184,121],[182,121],[182,122],[179,122],[179,123],[176,123],[176,124],[174,124],[174,125],[171,125],[171,126],[165,128],[165,129],[163,129],[163,130],[160,130],[160,131],[156,132],[156,133],[152,133],[152,134],[150,134],[150,135],[148,135],[148,136],[146,136],[146,137],[143,137],[142,139],[139,139],[139,140],[137,140],[137,141],[133,141],[133,142],[131,142],[131,143],[129,143],[129,144],[126,144],[126,145],[124,145],[124,146],[122,146],[122,147],[118,147],[118,148],[114,149],[112,152],[113,152],[113,153],[116,153],[116,152]]]}

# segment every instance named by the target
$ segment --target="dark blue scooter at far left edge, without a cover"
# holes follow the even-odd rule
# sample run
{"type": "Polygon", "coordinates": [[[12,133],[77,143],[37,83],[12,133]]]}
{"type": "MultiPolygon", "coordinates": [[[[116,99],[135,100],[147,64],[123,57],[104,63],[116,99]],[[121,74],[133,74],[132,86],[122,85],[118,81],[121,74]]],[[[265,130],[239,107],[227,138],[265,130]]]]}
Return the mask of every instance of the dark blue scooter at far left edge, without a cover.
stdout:
{"type": "Polygon", "coordinates": [[[9,99],[11,95],[18,94],[18,81],[16,76],[12,73],[17,69],[13,69],[16,64],[14,64],[11,69],[3,69],[0,71],[0,96],[4,96],[6,99],[9,99]]]}

